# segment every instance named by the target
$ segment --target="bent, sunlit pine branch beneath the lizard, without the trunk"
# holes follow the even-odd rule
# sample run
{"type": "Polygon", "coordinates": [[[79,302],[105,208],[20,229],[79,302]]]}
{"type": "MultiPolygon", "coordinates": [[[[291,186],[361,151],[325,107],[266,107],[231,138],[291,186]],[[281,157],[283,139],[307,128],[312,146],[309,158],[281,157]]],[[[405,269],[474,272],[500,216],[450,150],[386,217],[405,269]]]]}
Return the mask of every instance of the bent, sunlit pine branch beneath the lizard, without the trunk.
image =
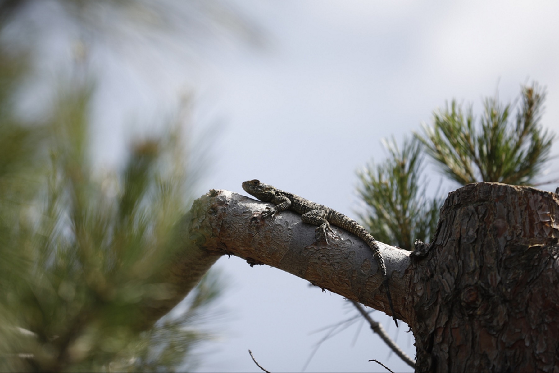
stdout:
{"type": "MultiPolygon", "coordinates": [[[[390,314],[382,275],[371,249],[361,239],[333,227],[339,238],[316,241],[315,226],[283,211],[272,219],[260,214],[267,204],[224,190],[196,200],[178,226],[177,255],[162,275],[172,297],[151,304],[146,325],[178,304],[221,255],[235,255],[251,266],[269,265],[311,284],[390,314]]],[[[378,243],[390,277],[397,317],[406,321],[409,252],[378,243]]]]}

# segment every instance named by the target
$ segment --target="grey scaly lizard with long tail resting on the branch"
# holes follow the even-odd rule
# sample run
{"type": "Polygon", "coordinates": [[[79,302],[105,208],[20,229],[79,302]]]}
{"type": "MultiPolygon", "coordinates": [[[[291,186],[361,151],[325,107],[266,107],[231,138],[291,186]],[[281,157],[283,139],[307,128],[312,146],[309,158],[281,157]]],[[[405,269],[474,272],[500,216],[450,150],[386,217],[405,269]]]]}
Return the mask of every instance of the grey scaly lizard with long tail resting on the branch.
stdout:
{"type": "Polygon", "coordinates": [[[245,192],[257,197],[262,202],[272,202],[272,204],[274,204],[273,207],[266,207],[266,211],[262,213],[263,218],[272,218],[281,211],[291,210],[301,215],[303,223],[317,225],[317,236],[319,238],[324,238],[326,243],[328,243],[328,233],[334,235],[334,231],[330,228],[330,224],[345,229],[364,240],[364,242],[366,242],[371,248],[373,257],[377,258],[380,263],[383,285],[386,287],[386,298],[388,299],[388,303],[390,305],[392,319],[394,319],[396,327],[398,327],[394,306],[392,305],[392,297],[390,296],[385,261],[382,258],[377,241],[367,231],[367,229],[363,228],[363,226],[357,223],[357,221],[339,213],[334,209],[330,209],[330,207],[316,204],[315,202],[306,200],[293,193],[282,191],[269,184],[264,184],[256,179],[243,182],[243,189],[245,192]]]}

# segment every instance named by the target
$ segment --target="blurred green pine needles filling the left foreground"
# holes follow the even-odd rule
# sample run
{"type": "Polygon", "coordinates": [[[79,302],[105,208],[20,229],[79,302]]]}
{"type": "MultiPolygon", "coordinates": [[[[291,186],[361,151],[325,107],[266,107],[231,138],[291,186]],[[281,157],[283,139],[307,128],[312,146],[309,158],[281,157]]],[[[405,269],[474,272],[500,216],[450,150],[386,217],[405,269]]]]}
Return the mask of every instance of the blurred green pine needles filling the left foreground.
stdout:
{"type": "Polygon", "coordinates": [[[98,171],[94,86],[65,85],[48,120],[22,123],[10,115],[21,62],[1,63],[0,371],[192,369],[193,348],[211,337],[201,325],[216,275],[182,311],[138,327],[143,305],[169,297],[158,278],[192,182],[181,129],[136,141],[121,170],[98,171]]]}

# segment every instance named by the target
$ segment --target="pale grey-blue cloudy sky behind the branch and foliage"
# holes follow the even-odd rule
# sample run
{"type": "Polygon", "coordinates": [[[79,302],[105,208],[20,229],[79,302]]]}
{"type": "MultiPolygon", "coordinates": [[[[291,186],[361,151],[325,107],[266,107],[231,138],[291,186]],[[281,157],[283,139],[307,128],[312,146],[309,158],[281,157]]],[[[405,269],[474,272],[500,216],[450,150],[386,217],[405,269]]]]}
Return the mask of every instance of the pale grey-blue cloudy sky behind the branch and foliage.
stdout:
{"type": "MultiPolygon", "coordinates": [[[[119,139],[134,119],[149,122],[189,89],[196,97],[195,131],[214,125],[206,134],[211,168],[198,193],[243,192],[241,182],[258,178],[356,218],[356,170],[385,157],[382,138],[410,136],[447,100],[471,102],[479,113],[482,97],[499,92],[511,101],[521,84],[537,81],[548,92],[543,125],[559,133],[558,2],[235,3],[266,31],[265,50],[213,49],[194,69],[180,59],[92,56],[103,61],[105,77],[95,113],[100,158],[122,155],[119,139]],[[143,75],[134,64],[143,64],[143,75]]],[[[48,17],[39,18],[46,23],[48,17]]],[[[51,29],[54,40],[68,33],[65,25],[51,29]]],[[[59,46],[48,49],[69,53],[63,41],[59,46]]],[[[36,95],[28,107],[46,93],[36,95]]],[[[552,164],[549,172],[557,177],[559,169],[552,164]]],[[[439,181],[430,173],[433,188],[439,181]]],[[[220,304],[229,321],[220,324],[219,341],[203,349],[201,372],[257,372],[249,349],[270,371],[301,371],[328,330],[314,332],[356,314],[340,296],[275,268],[250,268],[234,257],[216,267],[228,279],[220,304]]],[[[378,311],[372,317],[414,356],[405,324],[396,329],[378,311]]],[[[306,371],[385,371],[369,359],[413,371],[361,322],[326,340],[306,371]]]]}

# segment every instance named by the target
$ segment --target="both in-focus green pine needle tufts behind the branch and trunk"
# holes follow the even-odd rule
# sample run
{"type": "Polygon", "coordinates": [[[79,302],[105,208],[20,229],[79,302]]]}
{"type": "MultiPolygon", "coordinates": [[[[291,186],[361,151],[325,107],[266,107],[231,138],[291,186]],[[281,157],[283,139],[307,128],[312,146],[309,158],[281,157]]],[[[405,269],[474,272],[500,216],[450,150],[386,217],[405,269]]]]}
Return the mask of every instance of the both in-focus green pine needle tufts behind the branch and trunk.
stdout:
{"type": "Polygon", "coordinates": [[[368,209],[361,219],[369,232],[408,250],[414,249],[416,239],[430,241],[443,200],[425,196],[425,152],[445,176],[461,185],[533,185],[550,159],[555,139],[540,124],[544,101],[545,92],[536,83],[522,87],[517,105],[486,98],[479,124],[472,106],[465,111],[452,101],[434,111],[433,125],[424,126],[423,136],[405,141],[401,151],[394,140],[385,142],[389,158],[358,173],[358,192],[368,209]]]}

